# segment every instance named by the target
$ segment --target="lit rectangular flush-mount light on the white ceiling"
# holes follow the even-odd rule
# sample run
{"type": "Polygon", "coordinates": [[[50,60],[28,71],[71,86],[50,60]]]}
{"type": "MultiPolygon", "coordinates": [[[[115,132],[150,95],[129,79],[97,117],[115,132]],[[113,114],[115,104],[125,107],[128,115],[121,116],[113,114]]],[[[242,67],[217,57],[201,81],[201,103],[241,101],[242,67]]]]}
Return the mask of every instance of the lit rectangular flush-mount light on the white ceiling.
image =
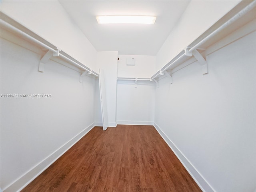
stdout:
{"type": "Polygon", "coordinates": [[[155,16],[137,16],[137,15],[110,15],[110,16],[97,16],[98,24],[154,24],[156,21],[155,16]]]}

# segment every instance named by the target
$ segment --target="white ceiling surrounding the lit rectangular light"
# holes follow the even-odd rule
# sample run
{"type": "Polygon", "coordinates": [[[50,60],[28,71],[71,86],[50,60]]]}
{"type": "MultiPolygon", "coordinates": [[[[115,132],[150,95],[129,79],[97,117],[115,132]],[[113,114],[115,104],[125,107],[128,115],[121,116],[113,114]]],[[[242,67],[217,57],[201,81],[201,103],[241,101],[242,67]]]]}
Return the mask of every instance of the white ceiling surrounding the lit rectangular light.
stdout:
{"type": "Polygon", "coordinates": [[[59,1],[97,51],[156,55],[190,1],[59,1]],[[101,15],[156,16],[154,25],[98,24],[101,15]]]}

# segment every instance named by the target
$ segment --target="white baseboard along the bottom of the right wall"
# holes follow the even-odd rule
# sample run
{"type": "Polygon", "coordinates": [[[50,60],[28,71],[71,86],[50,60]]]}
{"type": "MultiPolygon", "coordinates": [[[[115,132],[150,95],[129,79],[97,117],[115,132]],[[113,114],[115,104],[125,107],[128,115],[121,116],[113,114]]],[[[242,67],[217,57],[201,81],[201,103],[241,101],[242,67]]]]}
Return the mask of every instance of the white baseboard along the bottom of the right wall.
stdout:
{"type": "Polygon", "coordinates": [[[168,138],[168,136],[166,136],[166,134],[160,129],[160,127],[158,127],[156,123],[154,123],[154,127],[156,128],[160,136],[164,139],[164,141],[168,144],[168,146],[172,149],[174,154],[177,156],[177,158],[180,160],[180,162],[183,164],[183,166],[201,188],[201,190],[204,192],[214,192],[215,190],[212,188],[212,186],[208,184],[204,177],[198,172],[198,170],[196,170],[196,168],[194,168],[194,166],[186,158],[186,156],[182,154],[182,152],[175,146],[175,144],[168,138]]]}

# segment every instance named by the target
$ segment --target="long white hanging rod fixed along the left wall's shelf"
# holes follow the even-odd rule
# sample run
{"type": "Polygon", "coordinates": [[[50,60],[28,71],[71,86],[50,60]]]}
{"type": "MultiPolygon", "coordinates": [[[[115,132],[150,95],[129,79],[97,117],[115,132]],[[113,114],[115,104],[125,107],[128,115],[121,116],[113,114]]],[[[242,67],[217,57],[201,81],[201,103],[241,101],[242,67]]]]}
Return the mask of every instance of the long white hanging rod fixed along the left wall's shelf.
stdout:
{"type": "MultiPolygon", "coordinates": [[[[88,68],[87,66],[85,66],[85,65],[83,65],[83,64],[81,64],[81,63],[79,63],[79,62],[77,62],[74,58],[72,58],[72,57],[69,58],[69,57],[68,57],[68,56],[69,56],[68,54],[66,54],[65,52],[59,50],[56,46],[54,46],[54,45],[52,45],[52,44],[51,44],[52,46],[48,46],[48,45],[44,44],[43,42],[41,42],[40,40],[38,40],[38,39],[36,39],[36,38],[30,36],[29,34],[26,34],[26,33],[23,32],[22,30],[20,30],[20,29],[14,27],[14,26],[12,26],[11,24],[9,24],[8,22],[6,22],[6,21],[4,21],[4,20],[2,20],[2,19],[1,19],[1,25],[2,25],[4,28],[6,28],[6,29],[8,29],[8,30],[10,30],[10,31],[12,31],[12,32],[14,32],[15,34],[18,34],[18,35],[20,35],[20,36],[22,36],[22,37],[24,37],[24,38],[26,38],[26,39],[28,39],[28,40],[30,40],[30,41],[36,43],[36,44],[38,44],[39,46],[41,46],[41,47],[43,47],[43,48],[45,48],[45,49],[47,49],[47,50],[50,50],[53,54],[55,54],[56,56],[59,56],[60,58],[62,58],[62,59],[64,59],[64,60],[67,60],[68,62],[70,62],[70,63],[73,64],[74,66],[76,66],[76,67],[78,67],[78,68],[80,68],[80,69],[82,69],[82,70],[88,71],[88,74],[92,74],[92,75],[98,77],[98,73],[94,72],[93,70],[91,70],[91,69],[88,68]],[[67,56],[66,56],[66,55],[67,55],[67,56]]],[[[50,43],[48,42],[48,44],[50,44],[50,43]]]]}

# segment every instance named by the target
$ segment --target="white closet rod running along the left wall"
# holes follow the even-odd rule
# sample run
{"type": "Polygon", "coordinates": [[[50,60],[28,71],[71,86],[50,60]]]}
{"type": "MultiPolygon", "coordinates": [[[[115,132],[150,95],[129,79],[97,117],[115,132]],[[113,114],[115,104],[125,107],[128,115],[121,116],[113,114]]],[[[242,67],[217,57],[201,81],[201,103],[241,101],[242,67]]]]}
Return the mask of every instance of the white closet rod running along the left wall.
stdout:
{"type": "MultiPolygon", "coordinates": [[[[19,35],[21,35],[21,36],[27,38],[28,40],[30,40],[30,41],[32,41],[32,42],[34,42],[34,43],[36,43],[36,44],[42,46],[43,48],[52,51],[53,53],[57,53],[57,52],[58,52],[58,49],[57,49],[57,48],[54,49],[54,48],[52,48],[52,47],[50,47],[50,46],[44,44],[43,42],[40,42],[40,41],[37,40],[36,38],[34,38],[34,37],[32,37],[32,36],[26,34],[26,33],[23,32],[22,30],[20,30],[20,29],[14,27],[14,26],[12,26],[11,24],[9,24],[8,22],[6,22],[6,21],[4,21],[4,20],[2,20],[2,19],[1,19],[1,25],[4,26],[5,28],[11,30],[12,32],[15,32],[16,34],[19,34],[19,35]]],[[[59,53],[59,56],[60,56],[61,58],[65,59],[65,60],[71,62],[71,63],[74,64],[75,66],[77,66],[77,67],[79,67],[79,68],[82,68],[83,70],[88,71],[89,74],[93,74],[94,76],[98,77],[98,74],[97,74],[96,72],[92,71],[90,68],[88,68],[88,67],[86,67],[86,66],[84,66],[84,65],[82,65],[82,64],[77,63],[76,61],[74,61],[74,60],[68,58],[67,56],[63,55],[62,53],[59,53]]]]}

